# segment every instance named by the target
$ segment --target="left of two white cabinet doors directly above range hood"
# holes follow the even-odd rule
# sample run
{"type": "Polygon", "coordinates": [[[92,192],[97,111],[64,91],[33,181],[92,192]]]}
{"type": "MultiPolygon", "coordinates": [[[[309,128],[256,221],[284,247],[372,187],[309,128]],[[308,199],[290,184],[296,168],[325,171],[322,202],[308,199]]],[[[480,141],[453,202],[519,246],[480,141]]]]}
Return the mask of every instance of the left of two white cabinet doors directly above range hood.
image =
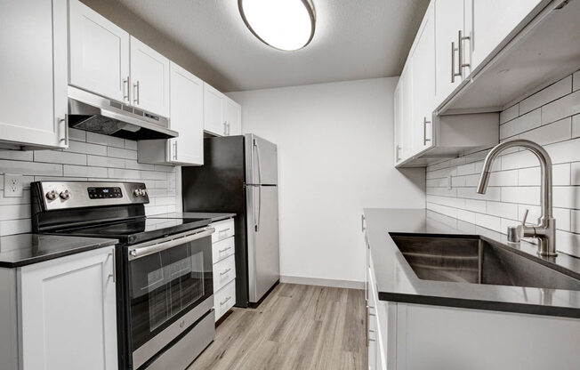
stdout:
{"type": "Polygon", "coordinates": [[[69,84],[129,102],[129,34],[77,0],[69,10],[69,84]]]}

